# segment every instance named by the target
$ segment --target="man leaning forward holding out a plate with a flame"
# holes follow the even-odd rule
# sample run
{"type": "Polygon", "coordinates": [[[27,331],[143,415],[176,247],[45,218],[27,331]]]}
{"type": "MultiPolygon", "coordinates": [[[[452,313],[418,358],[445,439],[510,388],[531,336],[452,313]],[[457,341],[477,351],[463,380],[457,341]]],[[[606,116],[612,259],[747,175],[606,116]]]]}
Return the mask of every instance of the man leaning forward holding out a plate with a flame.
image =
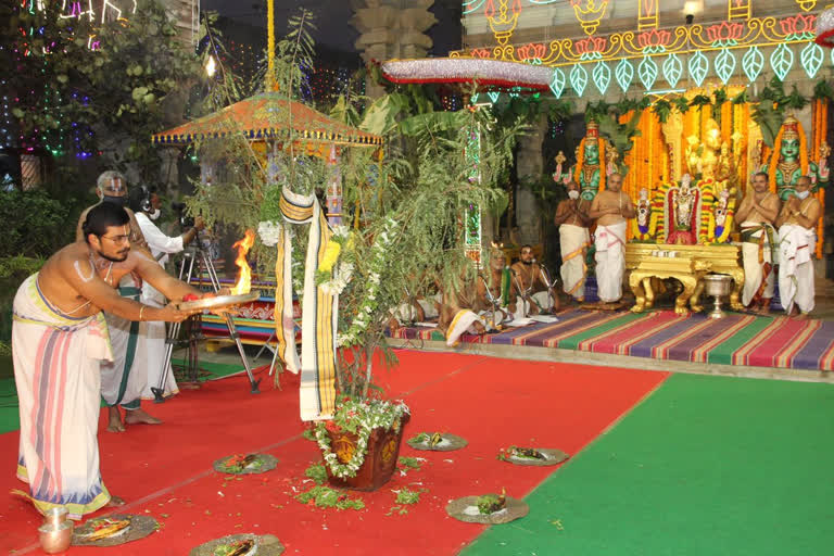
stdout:
{"type": "Polygon", "coordinates": [[[205,296],[131,251],[128,222],[121,206],[93,207],[84,224],[85,239],[52,255],[14,298],[17,477],[29,483],[29,500],[40,511],[63,506],[78,519],[111,501],[101,480],[97,440],[99,362],[112,359],[101,312],[135,320],[181,321],[190,316],[170,305],[152,307],[121,296],[119,280],[135,273],[172,300],[205,296]]]}

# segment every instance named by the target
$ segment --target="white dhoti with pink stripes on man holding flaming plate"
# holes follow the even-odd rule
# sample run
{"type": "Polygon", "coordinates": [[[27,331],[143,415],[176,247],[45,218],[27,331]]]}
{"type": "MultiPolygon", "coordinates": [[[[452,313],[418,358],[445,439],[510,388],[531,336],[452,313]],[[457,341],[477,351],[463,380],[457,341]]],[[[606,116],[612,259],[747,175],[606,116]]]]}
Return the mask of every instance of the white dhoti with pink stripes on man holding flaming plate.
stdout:
{"type": "Polygon", "coordinates": [[[27,278],[14,298],[12,351],[21,412],[17,478],[35,507],[79,518],[110,501],[99,470],[99,361],[112,358],[101,313],[74,318],[27,278]]]}

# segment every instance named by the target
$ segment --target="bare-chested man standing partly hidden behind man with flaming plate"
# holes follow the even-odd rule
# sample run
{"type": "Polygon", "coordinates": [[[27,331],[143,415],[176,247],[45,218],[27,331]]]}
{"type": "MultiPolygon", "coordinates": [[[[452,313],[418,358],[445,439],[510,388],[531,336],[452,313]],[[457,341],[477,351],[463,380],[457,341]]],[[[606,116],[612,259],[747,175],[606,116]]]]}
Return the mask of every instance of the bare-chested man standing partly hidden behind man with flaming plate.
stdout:
{"type": "MultiPolygon", "coordinates": [[[[127,181],[118,172],[104,172],[99,176],[97,193],[99,206],[102,203],[110,203],[121,207],[127,204],[127,181]]],[[[76,229],[76,241],[84,240],[81,230],[87,214],[93,206],[81,213],[76,229]]],[[[129,220],[129,240],[134,249],[142,251],[150,255],[148,243],[144,241],[136,215],[130,208],[125,208],[129,220]]],[[[132,301],[139,301],[141,296],[141,279],[131,274],[126,274],[118,282],[118,293],[132,301]]],[[[141,408],[141,392],[147,383],[147,366],[144,365],[144,352],[137,350],[139,341],[139,324],[131,323],[118,315],[110,313],[104,314],[110,330],[110,342],[113,350],[113,361],[101,364],[101,396],[110,407],[110,419],[108,430],[111,432],[122,432],[125,425],[122,421],[119,406],[125,409],[125,421],[138,424],[144,422],[155,425],[160,421],[155,417],[148,415],[141,408]],[[134,362],[139,365],[134,368],[134,362]]]]}

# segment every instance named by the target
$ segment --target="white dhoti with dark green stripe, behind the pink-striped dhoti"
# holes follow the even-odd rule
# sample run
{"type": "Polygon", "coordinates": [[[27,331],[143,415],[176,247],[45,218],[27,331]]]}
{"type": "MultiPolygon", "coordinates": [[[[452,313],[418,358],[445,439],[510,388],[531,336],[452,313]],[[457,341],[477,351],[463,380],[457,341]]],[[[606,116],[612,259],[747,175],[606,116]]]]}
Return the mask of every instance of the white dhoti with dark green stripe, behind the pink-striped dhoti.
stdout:
{"type": "MultiPolygon", "coordinates": [[[[139,301],[141,290],[132,276],[126,275],[118,285],[118,294],[139,301]]],[[[142,391],[148,386],[148,359],[140,352],[139,321],[127,320],[112,313],[104,313],[113,346],[113,361],[101,364],[101,397],[110,405],[125,409],[139,409],[142,391]]]]}

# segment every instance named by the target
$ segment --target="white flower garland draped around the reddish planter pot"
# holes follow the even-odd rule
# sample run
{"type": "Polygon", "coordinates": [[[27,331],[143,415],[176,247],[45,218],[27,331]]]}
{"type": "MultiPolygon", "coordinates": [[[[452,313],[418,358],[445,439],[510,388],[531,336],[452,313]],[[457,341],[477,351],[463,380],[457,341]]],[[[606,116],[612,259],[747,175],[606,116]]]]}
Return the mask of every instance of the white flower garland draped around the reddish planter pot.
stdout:
{"type": "Polygon", "coordinates": [[[315,424],[316,442],[330,472],[341,479],[355,477],[362,464],[365,463],[371,431],[374,429],[393,429],[399,432],[403,416],[409,413],[410,409],[402,400],[389,402],[386,400],[353,400],[350,396],[343,396],[336,407],[332,420],[315,424]],[[356,448],[349,462],[343,464],[339,460],[330,446],[328,431],[344,431],[357,437],[356,448]]]}

